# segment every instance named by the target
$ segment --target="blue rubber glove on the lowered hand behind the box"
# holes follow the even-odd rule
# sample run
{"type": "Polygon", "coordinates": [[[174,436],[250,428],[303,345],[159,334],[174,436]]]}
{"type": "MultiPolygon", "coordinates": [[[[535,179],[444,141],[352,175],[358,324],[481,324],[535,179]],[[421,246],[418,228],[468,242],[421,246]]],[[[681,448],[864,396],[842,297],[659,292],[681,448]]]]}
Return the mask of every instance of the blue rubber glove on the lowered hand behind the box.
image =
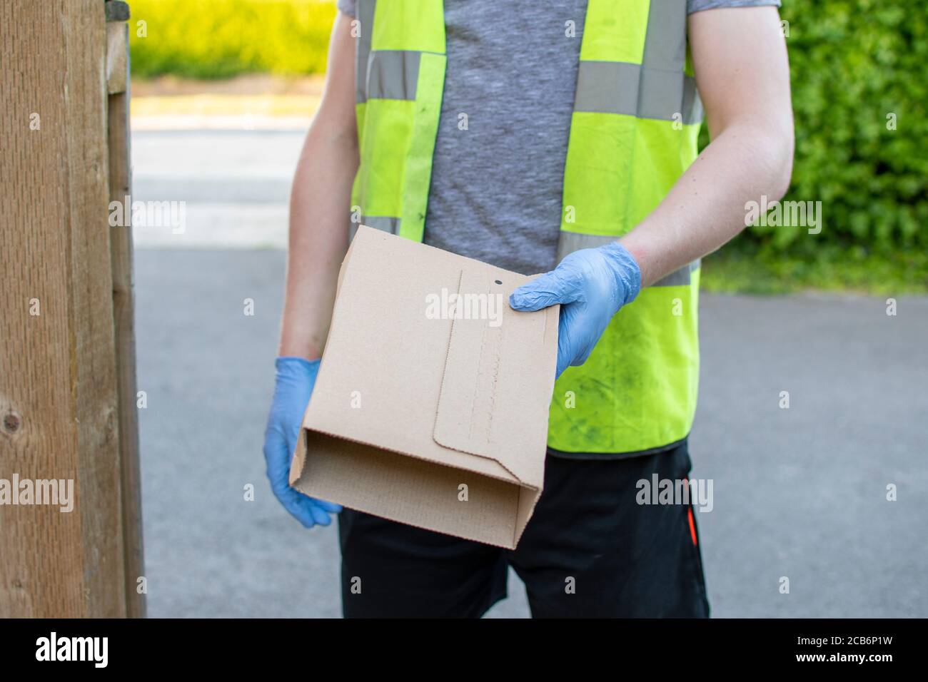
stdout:
{"type": "Polygon", "coordinates": [[[303,424],[303,412],[316,384],[319,361],[302,357],[278,357],[274,401],[264,430],[264,460],[271,490],[294,519],[306,528],[318,524],[328,526],[329,514],[342,507],[303,495],[290,487],[290,461],[296,449],[296,439],[303,424]]]}

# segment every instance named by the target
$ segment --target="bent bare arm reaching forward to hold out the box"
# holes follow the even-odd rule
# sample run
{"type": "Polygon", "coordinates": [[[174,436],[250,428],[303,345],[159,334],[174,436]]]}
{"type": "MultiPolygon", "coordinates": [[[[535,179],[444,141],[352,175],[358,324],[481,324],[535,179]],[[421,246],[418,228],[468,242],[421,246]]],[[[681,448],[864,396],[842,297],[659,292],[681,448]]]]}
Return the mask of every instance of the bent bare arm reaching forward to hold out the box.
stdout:
{"type": "Polygon", "coordinates": [[[780,199],[793,171],[789,63],[776,8],[692,14],[690,45],[712,143],[619,239],[643,287],[735,237],[747,202],[780,199]]]}

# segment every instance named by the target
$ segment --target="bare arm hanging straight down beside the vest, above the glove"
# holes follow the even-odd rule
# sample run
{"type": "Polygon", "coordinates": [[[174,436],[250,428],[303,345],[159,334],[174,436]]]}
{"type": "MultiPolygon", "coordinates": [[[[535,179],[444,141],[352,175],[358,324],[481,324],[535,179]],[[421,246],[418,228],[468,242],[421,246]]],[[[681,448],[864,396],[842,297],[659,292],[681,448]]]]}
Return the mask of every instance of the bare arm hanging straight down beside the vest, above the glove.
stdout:
{"type": "Polygon", "coordinates": [[[290,192],[290,248],[278,354],[322,354],[339,267],[348,249],[351,187],[358,166],[354,123],[354,39],[336,19],[329,79],[290,192]]]}

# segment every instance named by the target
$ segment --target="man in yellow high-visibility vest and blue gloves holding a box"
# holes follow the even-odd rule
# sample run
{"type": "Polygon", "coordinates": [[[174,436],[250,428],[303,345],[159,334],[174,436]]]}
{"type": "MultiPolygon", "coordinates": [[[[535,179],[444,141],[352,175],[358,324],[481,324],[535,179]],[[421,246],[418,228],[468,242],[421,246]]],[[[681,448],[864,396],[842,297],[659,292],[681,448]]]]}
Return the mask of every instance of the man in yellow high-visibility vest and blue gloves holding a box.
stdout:
{"type": "Polygon", "coordinates": [[[479,616],[509,566],[535,616],[708,615],[691,503],[642,504],[639,482],[689,476],[700,258],[790,182],[777,4],[339,0],[290,199],[264,457],[303,525],[338,515],[346,616],[479,616]],[[288,485],[359,223],[547,273],[509,300],[562,306],[545,487],[514,551],[288,485]]]}

